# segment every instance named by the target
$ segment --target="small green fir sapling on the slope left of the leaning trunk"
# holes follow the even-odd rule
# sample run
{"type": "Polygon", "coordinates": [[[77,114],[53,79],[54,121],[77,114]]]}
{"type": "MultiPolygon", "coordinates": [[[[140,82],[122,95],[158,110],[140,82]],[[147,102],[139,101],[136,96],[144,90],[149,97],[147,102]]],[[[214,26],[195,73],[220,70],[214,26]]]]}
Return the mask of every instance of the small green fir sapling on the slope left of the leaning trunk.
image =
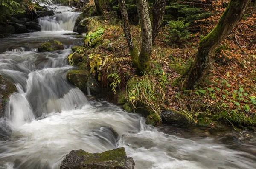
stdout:
{"type": "Polygon", "coordinates": [[[189,39],[190,33],[187,31],[189,24],[190,23],[184,23],[183,20],[169,21],[167,25],[166,39],[172,44],[189,39]]]}

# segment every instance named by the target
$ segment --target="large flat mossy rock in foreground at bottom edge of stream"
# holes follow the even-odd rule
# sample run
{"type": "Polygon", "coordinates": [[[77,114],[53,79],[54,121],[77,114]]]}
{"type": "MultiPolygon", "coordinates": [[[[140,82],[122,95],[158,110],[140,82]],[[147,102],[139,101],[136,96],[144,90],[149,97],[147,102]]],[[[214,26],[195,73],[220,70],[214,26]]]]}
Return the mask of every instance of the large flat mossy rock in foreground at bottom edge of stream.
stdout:
{"type": "Polygon", "coordinates": [[[127,157],[125,148],[102,153],[72,150],[61,163],[60,169],[134,169],[133,158],[127,157]]]}

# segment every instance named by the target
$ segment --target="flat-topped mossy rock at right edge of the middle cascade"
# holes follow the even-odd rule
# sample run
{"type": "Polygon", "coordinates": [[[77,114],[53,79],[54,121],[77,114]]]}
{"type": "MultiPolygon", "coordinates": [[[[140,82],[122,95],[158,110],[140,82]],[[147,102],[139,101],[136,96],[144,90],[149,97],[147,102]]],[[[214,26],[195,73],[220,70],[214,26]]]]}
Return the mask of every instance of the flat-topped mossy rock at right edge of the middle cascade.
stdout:
{"type": "Polygon", "coordinates": [[[76,87],[87,93],[87,82],[90,73],[87,70],[71,70],[67,73],[67,79],[76,87]]]}

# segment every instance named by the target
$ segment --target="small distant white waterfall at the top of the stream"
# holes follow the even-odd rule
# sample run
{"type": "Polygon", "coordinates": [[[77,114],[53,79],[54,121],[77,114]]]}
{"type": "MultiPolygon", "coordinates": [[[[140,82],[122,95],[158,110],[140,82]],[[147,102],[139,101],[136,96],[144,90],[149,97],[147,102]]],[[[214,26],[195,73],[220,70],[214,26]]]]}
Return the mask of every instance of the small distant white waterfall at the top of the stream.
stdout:
{"type": "Polygon", "coordinates": [[[38,23],[42,27],[42,31],[73,31],[76,23],[76,18],[79,12],[70,12],[71,8],[64,8],[63,6],[55,6],[51,8],[55,13],[53,16],[41,17],[38,23]],[[69,10],[69,11],[68,11],[69,10]]]}

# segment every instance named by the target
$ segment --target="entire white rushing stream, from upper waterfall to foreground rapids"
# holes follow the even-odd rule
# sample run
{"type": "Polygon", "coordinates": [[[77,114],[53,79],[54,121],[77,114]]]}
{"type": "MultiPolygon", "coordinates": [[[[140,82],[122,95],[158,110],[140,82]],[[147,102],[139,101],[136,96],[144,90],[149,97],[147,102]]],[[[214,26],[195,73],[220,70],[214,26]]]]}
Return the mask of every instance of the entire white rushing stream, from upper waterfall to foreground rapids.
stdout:
{"type": "Polygon", "coordinates": [[[0,74],[14,82],[6,117],[0,119],[0,169],[58,169],[73,149],[104,152],[125,147],[136,169],[254,169],[256,135],[195,126],[151,127],[140,115],[107,101],[88,102],[66,74],[79,13],[51,7],[43,31],[0,39],[0,74]],[[38,53],[50,39],[65,49],[38,53]],[[240,135],[240,138],[233,135],[240,135]]]}

